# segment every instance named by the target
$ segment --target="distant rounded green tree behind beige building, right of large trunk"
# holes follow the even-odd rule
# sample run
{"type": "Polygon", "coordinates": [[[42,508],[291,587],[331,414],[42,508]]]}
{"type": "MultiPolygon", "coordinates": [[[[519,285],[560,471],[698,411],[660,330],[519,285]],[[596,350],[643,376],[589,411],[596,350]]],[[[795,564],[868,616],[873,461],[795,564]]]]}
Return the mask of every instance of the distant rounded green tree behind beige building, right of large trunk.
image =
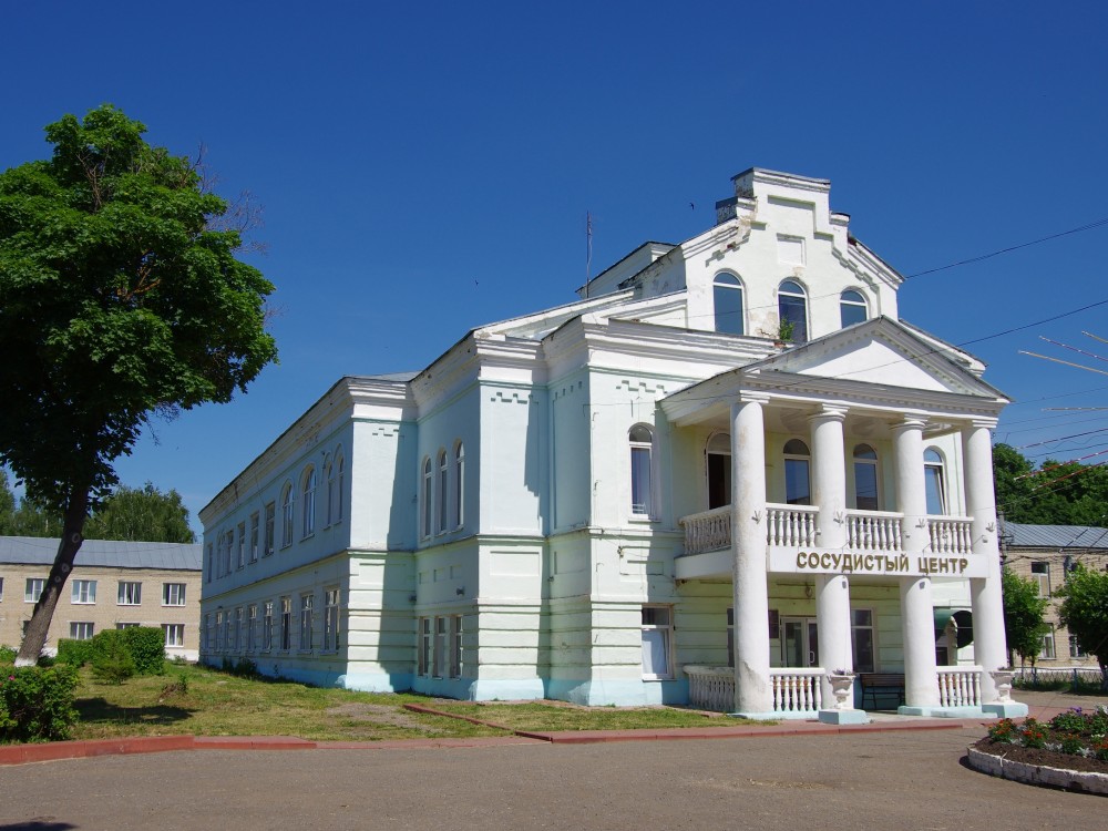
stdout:
{"type": "Polygon", "coordinates": [[[141,490],[120,485],[93,511],[84,529],[90,540],[127,540],[146,543],[193,543],[188,509],[181,494],[162,493],[147,482],[141,490]]]}

